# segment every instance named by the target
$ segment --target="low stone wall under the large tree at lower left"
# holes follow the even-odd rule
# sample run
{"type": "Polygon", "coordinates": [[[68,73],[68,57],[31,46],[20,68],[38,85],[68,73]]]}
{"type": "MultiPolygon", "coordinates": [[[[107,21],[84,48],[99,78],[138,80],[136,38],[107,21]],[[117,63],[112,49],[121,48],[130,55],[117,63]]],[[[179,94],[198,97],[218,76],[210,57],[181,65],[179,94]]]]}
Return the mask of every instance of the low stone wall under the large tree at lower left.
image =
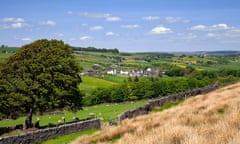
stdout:
{"type": "Polygon", "coordinates": [[[0,144],[34,144],[57,136],[63,136],[89,129],[99,129],[100,127],[100,119],[93,119],[73,124],[61,125],[54,128],[41,129],[19,136],[0,138],[0,144]]]}

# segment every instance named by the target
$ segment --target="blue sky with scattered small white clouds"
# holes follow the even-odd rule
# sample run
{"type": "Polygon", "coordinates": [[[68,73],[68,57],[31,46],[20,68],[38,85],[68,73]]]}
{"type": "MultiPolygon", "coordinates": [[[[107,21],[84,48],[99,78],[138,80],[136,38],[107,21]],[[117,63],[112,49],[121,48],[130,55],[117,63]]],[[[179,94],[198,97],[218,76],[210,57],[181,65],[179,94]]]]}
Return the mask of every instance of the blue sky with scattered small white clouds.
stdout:
{"type": "Polygon", "coordinates": [[[122,52],[240,50],[239,0],[1,0],[0,45],[122,52]]]}

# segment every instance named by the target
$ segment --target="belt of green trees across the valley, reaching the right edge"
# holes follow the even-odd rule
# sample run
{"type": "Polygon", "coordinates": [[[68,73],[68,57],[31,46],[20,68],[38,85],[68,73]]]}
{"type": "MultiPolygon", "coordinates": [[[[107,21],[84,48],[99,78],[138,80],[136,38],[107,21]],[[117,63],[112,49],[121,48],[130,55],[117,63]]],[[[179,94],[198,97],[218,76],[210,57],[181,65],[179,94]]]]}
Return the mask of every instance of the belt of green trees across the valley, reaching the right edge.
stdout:
{"type": "Polygon", "coordinates": [[[98,88],[83,97],[84,105],[151,99],[201,88],[216,82],[229,83],[240,78],[240,70],[195,71],[189,76],[172,78],[130,78],[108,88],[98,88]]]}

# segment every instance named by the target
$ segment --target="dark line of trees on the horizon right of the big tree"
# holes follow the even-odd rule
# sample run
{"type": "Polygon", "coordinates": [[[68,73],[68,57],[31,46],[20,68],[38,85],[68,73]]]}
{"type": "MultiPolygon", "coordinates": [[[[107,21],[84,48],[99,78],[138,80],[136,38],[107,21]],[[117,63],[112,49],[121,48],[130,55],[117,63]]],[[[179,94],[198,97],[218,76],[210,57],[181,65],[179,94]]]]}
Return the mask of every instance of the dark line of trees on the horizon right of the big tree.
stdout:
{"type": "Polygon", "coordinates": [[[103,52],[103,53],[119,53],[117,48],[95,48],[95,47],[72,47],[74,51],[87,51],[87,52],[103,52]]]}

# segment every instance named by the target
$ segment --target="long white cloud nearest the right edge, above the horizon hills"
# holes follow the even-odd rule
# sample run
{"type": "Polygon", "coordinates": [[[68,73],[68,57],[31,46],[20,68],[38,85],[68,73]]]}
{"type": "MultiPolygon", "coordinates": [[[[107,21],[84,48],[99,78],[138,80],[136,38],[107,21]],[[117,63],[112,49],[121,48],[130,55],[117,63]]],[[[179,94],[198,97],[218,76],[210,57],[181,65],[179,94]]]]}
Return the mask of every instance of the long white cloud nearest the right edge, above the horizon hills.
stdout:
{"type": "Polygon", "coordinates": [[[229,30],[229,29],[233,29],[233,27],[230,27],[224,23],[215,24],[211,26],[196,25],[190,28],[190,30],[198,30],[198,31],[219,31],[219,30],[229,30]]]}

